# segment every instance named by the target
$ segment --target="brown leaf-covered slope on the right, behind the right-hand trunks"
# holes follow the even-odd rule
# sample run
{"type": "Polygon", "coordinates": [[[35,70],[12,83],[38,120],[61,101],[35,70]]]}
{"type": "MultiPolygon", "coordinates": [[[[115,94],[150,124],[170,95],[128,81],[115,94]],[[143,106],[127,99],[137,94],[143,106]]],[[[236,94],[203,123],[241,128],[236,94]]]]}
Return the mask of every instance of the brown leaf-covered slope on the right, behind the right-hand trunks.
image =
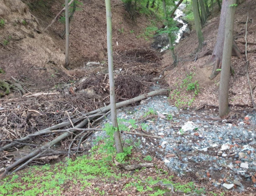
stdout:
{"type": "MultiPolygon", "coordinates": [[[[217,9],[217,7],[216,7],[217,9]]],[[[237,6],[236,18],[235,18],[235,27],[234,27],[234,38],[240,51],[242,52],[242,59],[237,57],[232,57],[232,65],[234,67],[234,75],[230,78],[229,83],[229,104],[231,105],[244,105],[252,106],[249,94],[249,86],[247,84],[246,76],[246,59],[245,59],[245,23],[247,20],[247,12],[249,13],[249,22],[248,22],[248,33],[247,49],[255,49],[256,44],[256,2],[255,1],[245,1],[242,4],[237,6]]],[[[211,18],[211,17],[210,17],[211,18]]],[[[191,36],[186,39],[183,39],[181,43],[176,46],[175,51],[178,55],[180,62],[177,67],[173,68],[170,71],[165,71],[165,75],[170,85],[171,89],[175,89],[175,84],[180,83],[186,74],[195,73],[193,81],[198,80],[200,85],[200,94],[196,100],[192,103],[192,107],[202,107],[204,105],[218,105],[218,88],[220,82],[220,74],[213,80],[209,79],[209,76],[212,72],[212,67],[204,67],[205,62],[210,57],[211,52],[204,57],[202,54],[205,54],[207,51],[213,51],[215,42],[217,39],[218,32],[218,23],[220,20],[220,13],[217,17],[210,19],[207,24],[202,29],[202,33],[205,39],[205,46],[202,48],[202,51],[197,54],[199,57],[196,62],[194,62],[196,48],[198,46],[196,32],[192,31],[191,36]]],[[[255,62],[255,51],[248,53],[249,65],[249,76],[252,88],[256,86],[256,62],[255,62]]],[[[170,54],[167,53],[163,58],[163,65],[171,65],[172,61],[170,54]]],[[[184,95],[184,92],[183,92],[184,95]]],[[[189,99],[192,99],[192,95],[188,95],[189,99]]],[[[254,91],[254,100],[256,99],[256,92],[254,91]]],[[[171,102],[171,104],[174,104],[171,102]]]]}

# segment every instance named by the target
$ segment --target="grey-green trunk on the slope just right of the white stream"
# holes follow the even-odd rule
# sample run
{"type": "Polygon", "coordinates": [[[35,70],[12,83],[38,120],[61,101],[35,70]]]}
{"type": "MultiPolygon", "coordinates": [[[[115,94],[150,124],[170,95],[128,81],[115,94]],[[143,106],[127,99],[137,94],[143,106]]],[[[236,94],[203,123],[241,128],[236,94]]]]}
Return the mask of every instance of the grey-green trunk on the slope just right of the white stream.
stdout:
{"type": "Polygon", "coordinates": [[[193,14],[194,14],[194,21],[196,26],[196,34],[198,38],[198,49],[202,47],[202,43],[204,42],[204,37],[202,35],[201,25],[200,25],[200,18],[199,18],[199,10],[197,0],[192,0],[192,7],[193,7],[193,14]]]}

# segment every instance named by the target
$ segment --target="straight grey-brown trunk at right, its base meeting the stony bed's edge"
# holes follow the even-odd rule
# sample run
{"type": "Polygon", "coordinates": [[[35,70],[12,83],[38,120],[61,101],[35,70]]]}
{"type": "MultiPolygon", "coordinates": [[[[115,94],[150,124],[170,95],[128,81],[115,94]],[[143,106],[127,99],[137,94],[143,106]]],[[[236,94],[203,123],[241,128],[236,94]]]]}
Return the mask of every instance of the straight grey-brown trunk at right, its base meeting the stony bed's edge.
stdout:
{"type": "Polygon", "coordinates": [[[231,54],[233,47],[233,31],[234,31],[234,13],[236,0],[223,0],[227,6],[226,23],[225,23],[225,41],[223,46],[223,59],[220,75],[220,92],[219,92],[219,114],[221,118],[228,116],[228,89],[229,89],[229,73],[231,65],[231,54]]]}

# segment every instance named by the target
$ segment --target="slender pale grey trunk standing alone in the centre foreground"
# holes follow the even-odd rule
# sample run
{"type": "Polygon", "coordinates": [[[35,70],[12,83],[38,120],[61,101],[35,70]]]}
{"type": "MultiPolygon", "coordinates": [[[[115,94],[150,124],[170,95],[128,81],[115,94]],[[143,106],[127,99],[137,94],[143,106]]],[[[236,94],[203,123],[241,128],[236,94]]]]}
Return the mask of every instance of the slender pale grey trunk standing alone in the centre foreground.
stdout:
{"type": "Polygon", "coordinates": [[[110,0],[105,0],[106,18],[107,18],[107,59],[109,63],[109,88],[110,88],[110,108],[112,125],[116,129],[114,132],[115,148],[117,153],[123,152],[123,146],[120,138],[117,123],[117,107],[115,105],[115,86],[114,86],[114,68],[113,68],[113,48],[112,48],[112,14],[110,0]]]}

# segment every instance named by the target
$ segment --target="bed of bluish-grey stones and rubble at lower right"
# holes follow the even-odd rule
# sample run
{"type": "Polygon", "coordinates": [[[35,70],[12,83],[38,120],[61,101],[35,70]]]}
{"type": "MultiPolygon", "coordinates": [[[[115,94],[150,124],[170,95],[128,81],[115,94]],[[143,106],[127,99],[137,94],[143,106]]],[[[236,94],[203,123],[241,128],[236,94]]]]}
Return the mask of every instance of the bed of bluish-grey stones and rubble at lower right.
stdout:
{"type": "MultiPolygon", "coordinates": [[[[242,118],[221,120],[215,109],[179,110],[165,96],[150,97],[117,112],[120,124],[131,132],[162,136],[155,139],[122,134],[123,141],[134,139],[137,149],[161,158],[178,176],[210,181],[223,189],[256,188],[256,113],[242,111],[242,118]],[[152,112],[156,115],[146,118],[152,112]],[[127,122],[130,119],[139,122],[136,128],[127,122]]],[[[102,126],[109,122],[107,116],[102,126]]],[[[91,141],[98,136],[105,133],[95,133],[91,141]]]]}

